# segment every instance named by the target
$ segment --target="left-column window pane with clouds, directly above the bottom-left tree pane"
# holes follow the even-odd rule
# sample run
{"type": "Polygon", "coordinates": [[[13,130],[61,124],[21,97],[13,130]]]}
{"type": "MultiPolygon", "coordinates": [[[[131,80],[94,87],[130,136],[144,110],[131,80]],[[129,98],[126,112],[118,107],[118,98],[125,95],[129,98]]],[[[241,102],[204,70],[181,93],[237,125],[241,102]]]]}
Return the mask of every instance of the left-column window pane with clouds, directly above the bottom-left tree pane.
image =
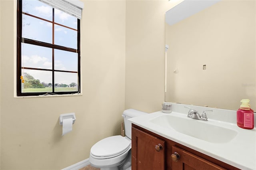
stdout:
{"type": "Polygon", "coordinates": [[[22,67],[52,69],[51,48],[22,43],[21,50],[22,67]]]}

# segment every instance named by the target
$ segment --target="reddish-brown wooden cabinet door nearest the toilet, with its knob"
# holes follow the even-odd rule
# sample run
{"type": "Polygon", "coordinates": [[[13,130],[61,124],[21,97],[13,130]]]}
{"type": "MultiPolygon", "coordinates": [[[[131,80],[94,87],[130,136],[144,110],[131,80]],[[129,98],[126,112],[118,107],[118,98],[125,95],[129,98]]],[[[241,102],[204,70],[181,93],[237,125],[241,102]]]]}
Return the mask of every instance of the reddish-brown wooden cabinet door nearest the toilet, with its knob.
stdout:
{"type": "Polygon", "coordinates": [[[165,141],[132,127],[132,170],[164,170],[165,141]]]}

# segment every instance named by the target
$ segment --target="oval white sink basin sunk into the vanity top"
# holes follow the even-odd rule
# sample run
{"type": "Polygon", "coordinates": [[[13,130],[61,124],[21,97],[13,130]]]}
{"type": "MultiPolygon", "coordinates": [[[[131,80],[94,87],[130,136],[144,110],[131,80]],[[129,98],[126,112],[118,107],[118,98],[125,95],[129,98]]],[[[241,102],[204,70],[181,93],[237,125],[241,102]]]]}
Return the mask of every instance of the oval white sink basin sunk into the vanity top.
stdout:
{"type": "Polygon", "coordinates": [[[221,123],[216,122],[214,125],[212,122],[191,119],[186,115],[161,115],[150,122],[211,143],[226,143],[237,135],[235,130],[217,125],[221,123]]]}

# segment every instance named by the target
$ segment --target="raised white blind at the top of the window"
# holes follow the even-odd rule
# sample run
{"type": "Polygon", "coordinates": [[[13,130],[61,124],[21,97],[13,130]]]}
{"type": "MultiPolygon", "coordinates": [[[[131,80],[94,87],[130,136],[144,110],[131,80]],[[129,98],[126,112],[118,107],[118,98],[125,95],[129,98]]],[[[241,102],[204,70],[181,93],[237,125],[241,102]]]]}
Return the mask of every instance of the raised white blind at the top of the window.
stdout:
{"type": "Polygon", "coordinates": [[[67,14],[75,16],[78,19],[82,18],[82,9],[84,3],[80,0],[39,0],[53,8],[61,10],[67,14]]]}

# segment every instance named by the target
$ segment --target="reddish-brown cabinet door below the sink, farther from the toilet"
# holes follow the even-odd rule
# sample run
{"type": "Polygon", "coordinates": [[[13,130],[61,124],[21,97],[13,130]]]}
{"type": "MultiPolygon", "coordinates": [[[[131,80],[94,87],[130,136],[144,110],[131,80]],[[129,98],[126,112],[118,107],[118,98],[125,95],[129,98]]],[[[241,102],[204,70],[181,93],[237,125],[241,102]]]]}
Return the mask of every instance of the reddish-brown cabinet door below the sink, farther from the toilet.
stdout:
{"type": "Polygon", "coordinates": [[[176,157],[179,157],[177,162],[172,162],[173,170],[226,170],[176,146],[172,146],[172,153],[173,160],[170,161],[174,161],[176,157]]]}

